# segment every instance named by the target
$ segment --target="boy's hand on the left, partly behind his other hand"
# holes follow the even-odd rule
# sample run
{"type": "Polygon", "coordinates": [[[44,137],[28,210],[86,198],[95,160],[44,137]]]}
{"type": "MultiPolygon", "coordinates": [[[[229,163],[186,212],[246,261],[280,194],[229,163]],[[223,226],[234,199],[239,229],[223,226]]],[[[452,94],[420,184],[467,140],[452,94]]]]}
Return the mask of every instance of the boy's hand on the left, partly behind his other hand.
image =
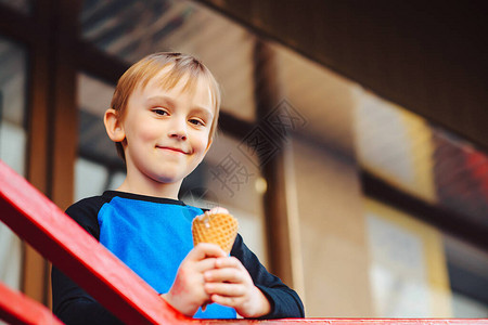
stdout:
{"type": "Polygon", "coordinates": [[[196,245],[181,262],[171,289],[162,297],[182,314],[193,316],[201,306],[211,302],[204,289],[204,273],[216,266],[217,258],[224,257],[217,245],[196,245]]]}

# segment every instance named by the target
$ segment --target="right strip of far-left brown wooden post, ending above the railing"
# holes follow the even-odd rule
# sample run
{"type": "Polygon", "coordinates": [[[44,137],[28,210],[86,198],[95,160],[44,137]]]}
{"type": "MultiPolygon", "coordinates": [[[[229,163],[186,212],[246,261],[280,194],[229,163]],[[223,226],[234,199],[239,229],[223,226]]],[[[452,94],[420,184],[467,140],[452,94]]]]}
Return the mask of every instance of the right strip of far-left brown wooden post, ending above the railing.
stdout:
{"type": "Polygon", "coordinates": [[[79,35],[81,1],[53,1],[52,79],[49,89],[50,188],[49,196],[62,209],[73,204],[75,160],[78,148],[75,44],[79,35]]]}

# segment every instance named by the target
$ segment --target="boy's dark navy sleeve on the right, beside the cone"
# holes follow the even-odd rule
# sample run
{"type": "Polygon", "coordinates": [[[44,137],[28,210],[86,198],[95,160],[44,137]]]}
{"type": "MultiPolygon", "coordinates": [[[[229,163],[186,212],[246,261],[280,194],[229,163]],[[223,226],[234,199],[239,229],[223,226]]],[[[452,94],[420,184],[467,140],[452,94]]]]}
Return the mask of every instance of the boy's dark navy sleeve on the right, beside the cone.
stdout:
{"type": "Polygon", "coordinates": [[[231,256],[237,258],[249,272],[256,287],[268,298],[271,312],[261,318],[304,317],[304,304],[298,295],[288,288],[281,280],[269,273],[259,262],[256,255],[247,248],[241,235],[237,234],[231,256]]]}

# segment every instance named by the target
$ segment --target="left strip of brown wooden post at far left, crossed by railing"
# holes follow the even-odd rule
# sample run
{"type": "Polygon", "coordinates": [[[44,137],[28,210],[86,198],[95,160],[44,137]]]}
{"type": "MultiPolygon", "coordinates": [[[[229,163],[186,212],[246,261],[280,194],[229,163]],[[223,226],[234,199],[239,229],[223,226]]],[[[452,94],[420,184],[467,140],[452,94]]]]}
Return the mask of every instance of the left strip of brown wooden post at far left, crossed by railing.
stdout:
{"type": "MultiPolygon", "coordinates": [[[[33,21],[33,20],[29,20],[33,21]]],[[[36,5],[36,29],[49,35],[51,22],[50,0],[39,0],[36,5]]],[[[23,29],[22,26],[16,26],[23,29]]],[[[37,35],[37,34],[36,34],[37,35]]],[[[52,49],[48,37],[30,35],[27,72],[27,179],[40,192],[48,194],[49,168],[49,80],[52,49]]],[[[24,244],[22,291],[34,300],[50,306],[48,261],[31,246],[24,244]]]]}

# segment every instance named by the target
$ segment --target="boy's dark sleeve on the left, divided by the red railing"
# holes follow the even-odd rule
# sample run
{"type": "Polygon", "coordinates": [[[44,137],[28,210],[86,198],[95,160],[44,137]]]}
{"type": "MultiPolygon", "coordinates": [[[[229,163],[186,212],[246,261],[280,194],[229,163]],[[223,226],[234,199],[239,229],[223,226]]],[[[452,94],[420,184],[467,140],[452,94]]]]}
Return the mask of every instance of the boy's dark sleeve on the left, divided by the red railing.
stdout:
{"type": "MultiPolygon", "coordinates": [[[[70,206],[66,213],[97,240],[100,239],[99,197],[70,206]]],[[[53,266],[51,271],[53,313],[66,324],[124,324],[81,289],[75,282],[53,266]]]]}

